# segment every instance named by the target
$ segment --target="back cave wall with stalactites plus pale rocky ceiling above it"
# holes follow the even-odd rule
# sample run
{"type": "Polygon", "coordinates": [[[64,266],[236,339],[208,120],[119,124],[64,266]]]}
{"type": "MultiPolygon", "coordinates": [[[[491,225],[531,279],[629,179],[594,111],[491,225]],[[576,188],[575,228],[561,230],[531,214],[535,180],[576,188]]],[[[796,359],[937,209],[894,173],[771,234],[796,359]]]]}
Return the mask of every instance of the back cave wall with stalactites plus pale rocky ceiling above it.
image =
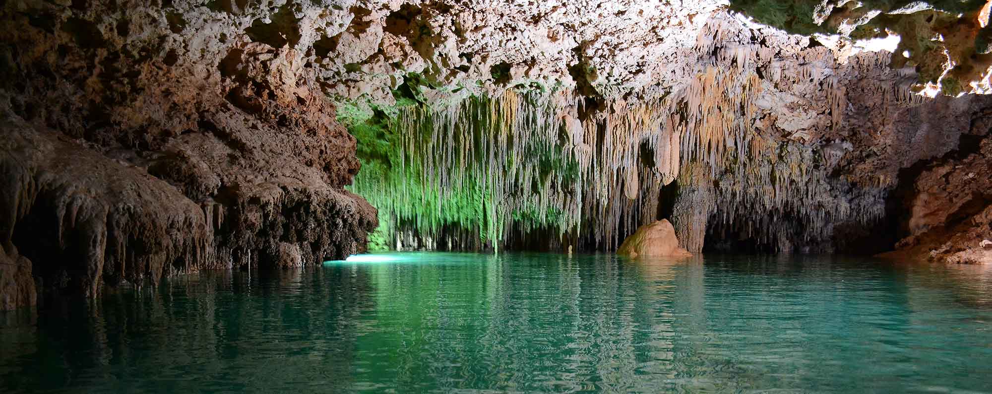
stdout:
{"type": "Polygon", "coordinates": [[[822,2],[817,12],[832,11],[818,17],[796,14],[800,3],[784,12],[806,17],[805,28],[732,11],[757,12],[747,2],[495,7],[480,20],[465,15],[482,10],[436,2],[372,13],[364,36],[339,38],[367,45],[368,65],[416,61],[338,75],[339,87],[369,70],[391,75],[362,79],[341,117],[366,163],[353,190],[388,226],[377,243],[537,238],[612,250],[667,211],[694,251],[891,247],[902,213],[890,195],[906,170],[988,133],[990,101],[964,94],[988,82],[977,49],[985,3],[853,12],[822,2]],[[432,34],[368,33],[397,21],[432,34]],[[920,47],[922,37],[933,40],[920,47]],[[879,42],[890,47],[870,49],[879,42]],[[422,57],[399,55],[412,52],[422,57]]]}

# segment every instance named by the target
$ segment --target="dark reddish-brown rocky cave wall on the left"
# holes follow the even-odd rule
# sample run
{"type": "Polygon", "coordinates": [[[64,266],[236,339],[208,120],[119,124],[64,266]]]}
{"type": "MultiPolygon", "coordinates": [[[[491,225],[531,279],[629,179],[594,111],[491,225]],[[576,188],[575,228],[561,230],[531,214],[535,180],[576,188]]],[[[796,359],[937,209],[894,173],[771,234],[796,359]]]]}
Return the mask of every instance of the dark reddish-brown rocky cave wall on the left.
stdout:
{"type": "Polygon", "coordinates": [[[343,189],[355,139],[280,45],[313,27],[223,9],[239,6],[2,4],[2,309],[363,248],[375,209],[343,189]]]}

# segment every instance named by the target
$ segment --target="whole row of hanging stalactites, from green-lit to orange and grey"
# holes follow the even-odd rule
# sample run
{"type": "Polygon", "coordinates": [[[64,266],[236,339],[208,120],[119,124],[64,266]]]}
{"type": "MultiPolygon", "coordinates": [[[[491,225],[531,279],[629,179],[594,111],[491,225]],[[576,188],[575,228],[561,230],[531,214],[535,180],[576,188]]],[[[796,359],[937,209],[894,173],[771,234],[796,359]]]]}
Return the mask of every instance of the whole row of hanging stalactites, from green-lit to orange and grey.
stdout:
{"type": "MultiPolygon", "coordinates": [[[[555,228],[561,237],[615,248],[639,224],[658,218],[661,189],[676,179],[694,198],[712,198],[675,201],[677,208],[691,207],[682,216],[702,221],[688,226],[694,228],[688,243],[699,248],[707,220],[788,249],[774,230],[787,221],[795,227],[790,237],[808,240],[828,237],[837,222],[878,217],[877,206],[842,196],[851,186],[829,179],[824,167],[830,166],[821,152],[813,154],[816,148],[755,129],[756,98],[765,86],[813,84],[838,131],[852,83],[839,76],[838,65],[775,59],[774,50],[758,45],[717,44],[732,32],[710,30],[711,40],[697,43],[714,54],[709,63],[657,100],[586,107],[588,100],[570,91],[510,89],[439,109],[406,107],[392,125],[402,141],[394,164],[401,176],[372,183],[360,176],[354,189],[385,209],[388,217],[380,220],[387,232],[402,222],[421,235],[450,236],[443,229],[454,225],[494,247],[507,241],[506,229],[523,227],[555,228]]],[[[886,54],[862,58],[848,67],[892,72],[880,70],[886,54]]],[[[876,84],[893,100],[919,102],[908,86],[876,84]]],[[[687,224],[675,221],[685,232],[687,224]]]]}

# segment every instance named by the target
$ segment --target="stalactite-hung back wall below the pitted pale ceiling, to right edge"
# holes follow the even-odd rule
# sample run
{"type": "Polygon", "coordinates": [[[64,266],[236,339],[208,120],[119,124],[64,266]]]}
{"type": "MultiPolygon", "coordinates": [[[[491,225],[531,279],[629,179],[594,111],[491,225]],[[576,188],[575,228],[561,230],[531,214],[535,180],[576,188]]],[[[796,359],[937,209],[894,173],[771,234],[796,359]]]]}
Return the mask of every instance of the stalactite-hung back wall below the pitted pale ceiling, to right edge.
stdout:
{"type": "Polygon", "coordinates": [[[724,11],[696,34],[664,63],[682,79],[654,87],[517,84],[456,100],[420,81],[401,86],[408,103],[349,119],[373,147],[353,190],[380,208],[382,243],[558,230],[562,244],[614,250],[671,209],[693,251],[709,237],[865,252],[850,234],[878,232],[903,169],[987,135],[992,101],[915,94],[919,74],[889,52],[724,11]]]}

